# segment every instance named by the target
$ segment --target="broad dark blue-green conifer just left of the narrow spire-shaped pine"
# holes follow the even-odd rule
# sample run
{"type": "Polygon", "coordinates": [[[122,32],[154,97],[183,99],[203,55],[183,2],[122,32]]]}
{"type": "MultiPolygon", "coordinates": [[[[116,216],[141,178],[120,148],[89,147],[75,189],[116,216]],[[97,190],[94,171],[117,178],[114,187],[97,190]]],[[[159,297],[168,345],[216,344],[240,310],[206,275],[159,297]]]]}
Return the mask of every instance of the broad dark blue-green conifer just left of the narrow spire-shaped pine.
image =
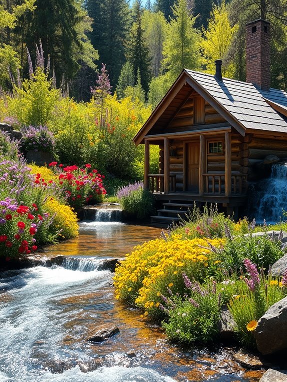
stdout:
{"type": "Polygon", "coordinates": [[[113,86],[125,62],[125,42],[130,25],[127,0],[87,0],[88,14],[93,18],[90,39],[105,62],[113,86]]]}

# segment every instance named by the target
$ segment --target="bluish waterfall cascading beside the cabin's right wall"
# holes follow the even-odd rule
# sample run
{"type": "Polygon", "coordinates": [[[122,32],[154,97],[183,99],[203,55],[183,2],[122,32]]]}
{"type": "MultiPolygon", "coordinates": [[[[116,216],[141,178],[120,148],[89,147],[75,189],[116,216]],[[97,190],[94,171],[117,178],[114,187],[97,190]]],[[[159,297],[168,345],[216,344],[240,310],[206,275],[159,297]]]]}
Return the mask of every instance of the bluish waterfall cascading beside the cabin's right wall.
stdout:
{"type": "Polygon", "coordinates": [[[270,178],[258,184],[256,199],[256,221],[271,223],[282,218],[287,211],[287,163],[272,165],[270,178]]]}

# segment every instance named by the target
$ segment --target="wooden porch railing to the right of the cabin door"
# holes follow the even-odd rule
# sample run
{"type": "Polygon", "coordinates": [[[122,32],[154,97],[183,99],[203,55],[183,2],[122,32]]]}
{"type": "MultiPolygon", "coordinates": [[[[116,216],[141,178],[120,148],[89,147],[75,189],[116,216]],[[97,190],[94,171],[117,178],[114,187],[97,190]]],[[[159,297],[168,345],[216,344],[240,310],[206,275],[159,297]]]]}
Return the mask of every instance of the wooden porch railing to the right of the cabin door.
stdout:
{"type": "MultiPolygon", "coordinates": [[[[204,193],[222,194],[225,193],[225,175],[217,173],[203,174],[204,176],[204,193]]],[[[231,175],[231,194],[243,195],[246,193],[246,175],[232,174],[231,175]]]]}

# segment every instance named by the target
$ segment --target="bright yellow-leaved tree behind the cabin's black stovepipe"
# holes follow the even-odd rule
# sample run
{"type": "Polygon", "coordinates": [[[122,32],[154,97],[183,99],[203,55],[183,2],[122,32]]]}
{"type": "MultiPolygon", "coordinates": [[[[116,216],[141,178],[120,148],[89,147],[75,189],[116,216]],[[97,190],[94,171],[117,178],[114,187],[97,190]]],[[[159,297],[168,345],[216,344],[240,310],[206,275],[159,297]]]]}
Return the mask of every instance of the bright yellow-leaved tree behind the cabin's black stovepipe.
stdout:
{"type": "Polygon", "coordinates": [[[228,10],[225,2],[215,6],[212,10],[211,18],[208,22],[207,30],[203,32],[204,39],[201,48],[205,57],[207,72],[214,74],[214,61],[223,60],[222,72],[225,77],[233,77],[234,68],[228,62],[227,55],[237,25],[231,27],[228,19],[228,10]]]}

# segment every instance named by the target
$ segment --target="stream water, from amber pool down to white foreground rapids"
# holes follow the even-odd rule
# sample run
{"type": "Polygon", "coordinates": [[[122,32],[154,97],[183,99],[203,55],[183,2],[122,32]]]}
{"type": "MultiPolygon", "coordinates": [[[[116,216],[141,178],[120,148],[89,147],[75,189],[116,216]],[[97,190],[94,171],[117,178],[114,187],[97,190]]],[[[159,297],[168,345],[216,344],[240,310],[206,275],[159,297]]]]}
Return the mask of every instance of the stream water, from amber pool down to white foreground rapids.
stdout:
{"type": "Polygon", "coordinates": [[[258,381],[228,350],[172,346],[159,327],[114,300],[112,274],[99,263],[159,234],[120,222],[80,223],[77,239],[44,251],[73,255],[64,266],[1,273],[0,382],[258,381]],[[104,322],[120,333],[87,342],[104,322]]]}

